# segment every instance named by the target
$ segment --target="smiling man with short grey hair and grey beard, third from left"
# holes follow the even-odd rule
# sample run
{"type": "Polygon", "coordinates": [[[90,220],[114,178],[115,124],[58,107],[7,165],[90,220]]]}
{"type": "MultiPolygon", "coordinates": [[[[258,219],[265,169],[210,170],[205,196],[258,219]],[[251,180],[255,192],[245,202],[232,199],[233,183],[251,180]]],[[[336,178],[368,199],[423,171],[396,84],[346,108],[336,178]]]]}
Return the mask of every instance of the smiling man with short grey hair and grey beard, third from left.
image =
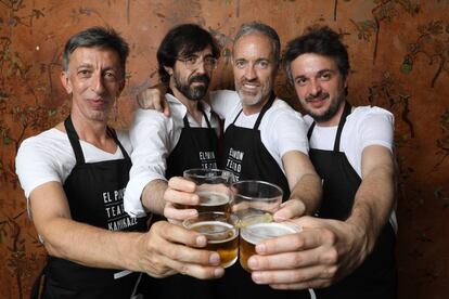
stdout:
{"type": "MultiPolygon", "coordinates": [[[[242,25],[232,54],[236,91],[215,91],[210,104],[226,119],[223,168],[239,180],[264,180],[282,187],[284,203],[273,216],[282,220],[311,214],[319,206],[321,181],[308,158],[302,117],[273,94],[279,62],[280,39],[275,30],[261,23],[242,25]]],[[[159,107],[159,98],[157,90],[146,91],[140,105],[159,107]]],[[[183,220],[187,210],[177,209],[177,204],[194,200],[192,182],[170,179],[165,216],[183,220]]],[[[214,285],[207,298],[310,298],[308,291],[256,285],[240,263],[228,268],[214,285]]]]}

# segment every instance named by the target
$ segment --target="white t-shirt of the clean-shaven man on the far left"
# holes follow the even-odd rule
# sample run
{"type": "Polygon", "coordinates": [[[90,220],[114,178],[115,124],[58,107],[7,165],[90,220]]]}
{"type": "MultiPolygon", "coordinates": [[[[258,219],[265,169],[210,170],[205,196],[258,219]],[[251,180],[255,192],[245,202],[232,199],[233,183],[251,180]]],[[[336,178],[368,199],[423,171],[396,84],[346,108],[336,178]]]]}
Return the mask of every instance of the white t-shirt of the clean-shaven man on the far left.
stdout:
{"type": "MultiPolygon", "coordinates": [[[[128,133],[119,130],[116,132],[124,148],[130,153],[132,147],[128,133]]],[[[119,146],[111,154],[82,140],[79,142],[86,162],[124,158],[119,146]]],[[[24,140],[15,157],[15,171],[27,198],[33,190],[44,183],[64,184],[75,165],[75,153],[67,134],[55,128],[24,140]]]]}

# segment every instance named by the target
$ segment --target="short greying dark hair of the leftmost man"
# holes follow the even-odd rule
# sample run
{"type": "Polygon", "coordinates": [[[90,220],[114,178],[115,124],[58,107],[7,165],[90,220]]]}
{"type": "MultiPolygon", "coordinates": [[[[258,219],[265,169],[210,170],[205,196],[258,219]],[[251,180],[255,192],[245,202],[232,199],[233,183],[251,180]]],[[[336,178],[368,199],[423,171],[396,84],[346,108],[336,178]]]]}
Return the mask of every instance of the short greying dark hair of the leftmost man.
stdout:
{"type": "Polygon", "coordinates": [[[90,27],[82,30],[73,37],[65,43],[63,53],[63,68],[68,70],[68,62],[70,54],[77,48],[107,48],[117,52],[120,60],[120,65],[126,72],[126,60],[129,54],[128,42],[111,27],[90,27]]]}

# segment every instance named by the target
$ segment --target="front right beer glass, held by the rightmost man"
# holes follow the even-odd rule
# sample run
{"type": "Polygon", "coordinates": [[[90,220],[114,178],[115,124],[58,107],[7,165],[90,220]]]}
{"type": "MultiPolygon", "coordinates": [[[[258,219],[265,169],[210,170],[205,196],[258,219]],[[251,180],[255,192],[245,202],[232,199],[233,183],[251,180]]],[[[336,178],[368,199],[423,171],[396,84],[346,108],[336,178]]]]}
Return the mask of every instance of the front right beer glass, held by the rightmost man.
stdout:
{"type": "Polygon", "coordinates": [[[240,264],[247,272],[252,272],[248,268],[248,259],[256,255],[256,244],[273,237],[300,232],[300,227],[291,221],[283,222],[264,222],[260,218],[253,221],[252,224],[241,227],[240,232],[240,264]]]}

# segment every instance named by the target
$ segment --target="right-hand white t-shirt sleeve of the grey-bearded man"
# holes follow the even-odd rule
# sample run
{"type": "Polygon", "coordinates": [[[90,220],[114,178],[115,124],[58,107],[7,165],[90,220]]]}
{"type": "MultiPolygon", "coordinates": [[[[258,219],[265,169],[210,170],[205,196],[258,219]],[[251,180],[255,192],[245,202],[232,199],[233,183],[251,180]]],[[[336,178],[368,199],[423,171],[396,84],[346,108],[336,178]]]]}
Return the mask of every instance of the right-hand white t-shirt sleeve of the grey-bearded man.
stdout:
{"type": "Polygon", "coordinates": [[[275,151],[280,157],[287,152],[299,151],[306,155],[309,152],[307,141],[306,125],[300,114],[295,110],[279,109],[272,114],[268,128],[270,128],[270,139],[273,141],[275,151]]]}

